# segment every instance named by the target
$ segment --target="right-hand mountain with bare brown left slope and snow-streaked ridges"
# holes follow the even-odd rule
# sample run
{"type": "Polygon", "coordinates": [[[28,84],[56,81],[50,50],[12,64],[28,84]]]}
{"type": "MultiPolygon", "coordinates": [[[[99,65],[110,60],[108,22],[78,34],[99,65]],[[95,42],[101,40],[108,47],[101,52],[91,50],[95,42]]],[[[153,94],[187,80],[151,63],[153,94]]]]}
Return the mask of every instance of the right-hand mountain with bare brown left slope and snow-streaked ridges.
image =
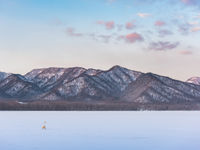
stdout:
{"type": "Polygon", "coordinates": [[[132,102],[192,102],[200,101],[200,86],[152,73],[141,75],[129,85],[122,99],[132,102]]]}

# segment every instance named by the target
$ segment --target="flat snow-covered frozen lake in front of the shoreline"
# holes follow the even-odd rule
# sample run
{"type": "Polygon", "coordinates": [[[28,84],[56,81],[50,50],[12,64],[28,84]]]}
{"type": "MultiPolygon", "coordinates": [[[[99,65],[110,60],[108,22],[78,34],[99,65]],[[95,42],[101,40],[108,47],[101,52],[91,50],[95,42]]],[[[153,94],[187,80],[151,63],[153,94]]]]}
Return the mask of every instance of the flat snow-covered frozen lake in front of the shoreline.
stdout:
{"type": "Polygon", "coordinates": [[[0,112],[0,150],[199,150],[199,140],[195,111],[0,112]]]}

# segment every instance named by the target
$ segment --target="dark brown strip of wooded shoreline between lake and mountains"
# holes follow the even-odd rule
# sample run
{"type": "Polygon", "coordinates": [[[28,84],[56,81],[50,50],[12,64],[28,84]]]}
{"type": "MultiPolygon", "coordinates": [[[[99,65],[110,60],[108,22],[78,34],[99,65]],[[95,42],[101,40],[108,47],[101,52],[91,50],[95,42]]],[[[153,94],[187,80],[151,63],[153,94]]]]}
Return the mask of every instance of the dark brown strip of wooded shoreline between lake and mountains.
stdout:
{"type": "Polygon", "coordinates": [[[200,110],[200,103],[133,103],[116,101],[0,101],[0,111],[141,111],[200,110]]]}

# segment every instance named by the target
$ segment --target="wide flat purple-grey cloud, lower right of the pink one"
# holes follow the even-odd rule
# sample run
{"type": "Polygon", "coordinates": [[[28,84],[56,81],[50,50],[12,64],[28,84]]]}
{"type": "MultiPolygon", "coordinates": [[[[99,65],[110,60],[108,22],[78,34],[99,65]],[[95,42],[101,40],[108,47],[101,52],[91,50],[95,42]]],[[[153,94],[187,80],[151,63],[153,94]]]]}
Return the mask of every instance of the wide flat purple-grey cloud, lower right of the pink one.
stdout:
{"type": "Polygon", "coordinates": [[[166,51],[166,50],[171,50],[171,49],[174,49],[176,48],[177,46],[179,46],[179,42],[162,42],[162,41],[159,41],[159,42],[152,42],[150,43],[149,45],[149,49],[151,50],[156,50],[156,51],[166,51]]]}

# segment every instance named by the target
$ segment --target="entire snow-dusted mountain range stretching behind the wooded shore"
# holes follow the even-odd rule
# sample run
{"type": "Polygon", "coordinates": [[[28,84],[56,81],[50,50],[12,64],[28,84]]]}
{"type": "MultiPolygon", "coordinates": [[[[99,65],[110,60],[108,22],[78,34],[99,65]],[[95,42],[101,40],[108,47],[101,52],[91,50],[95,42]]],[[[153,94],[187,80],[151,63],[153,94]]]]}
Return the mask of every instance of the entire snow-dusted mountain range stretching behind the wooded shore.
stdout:
{"type": "Polygon", "coordinates": [[[25,75],[0,72],[0,98],[19,101],[200,102],[200,77],[186,82],[121,66],[109,70],[34,69],[25,75]]]}

